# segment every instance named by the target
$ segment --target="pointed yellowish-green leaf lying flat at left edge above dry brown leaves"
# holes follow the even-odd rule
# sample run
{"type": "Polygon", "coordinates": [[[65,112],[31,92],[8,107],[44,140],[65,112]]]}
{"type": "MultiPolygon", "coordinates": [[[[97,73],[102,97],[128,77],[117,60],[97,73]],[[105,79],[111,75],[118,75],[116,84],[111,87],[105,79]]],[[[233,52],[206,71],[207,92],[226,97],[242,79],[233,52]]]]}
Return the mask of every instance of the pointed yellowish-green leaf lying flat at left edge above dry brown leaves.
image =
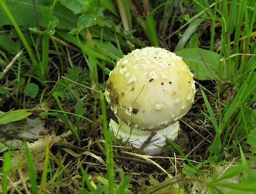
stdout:
{"type": "Polygon", "coordinates": [[[0,125],[27,118],[31,114],[31,112],[24,110],[8,111],[7,113],[3,113],[0,115],[0,125]]]}

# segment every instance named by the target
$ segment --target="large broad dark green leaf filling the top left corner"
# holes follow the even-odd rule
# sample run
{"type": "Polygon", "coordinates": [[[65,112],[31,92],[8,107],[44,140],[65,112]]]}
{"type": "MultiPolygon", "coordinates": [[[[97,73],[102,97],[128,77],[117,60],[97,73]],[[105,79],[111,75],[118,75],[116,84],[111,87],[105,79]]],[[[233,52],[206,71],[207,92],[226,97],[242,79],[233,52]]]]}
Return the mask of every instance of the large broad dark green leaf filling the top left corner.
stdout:
{"type": "MultiPolygon", "coordinates": [[[[36,18],[35,10],[33,7],[33,1],[31,0],[5,0],[6,4],[14,16],[14,19],[17,21],[19,26],[28,29],[28,27],[35,27],[36,19],[28,19],[28,18],[36,18]],[[19,12],[17,12],[19,10],[19,12]]],[[[47,18],[52,16],[56,16],[59,20],[58,29],[68,29],[72,30],[76,28],[78,16],[76,16],[71,10],[64,7],[62,4],[57,2],[54,7],[54,12],[51,14],[51,7],[53,5],[54,0],[38,0],[36,1],[37,6],[37,14],[38,14],[38,22],[39,26],[46,28],[47,27],[47,18]]],[[[0,26],[2,25],[12,25],[11,21],[3,11],[2,7],[0,7],[0,26]]]]}

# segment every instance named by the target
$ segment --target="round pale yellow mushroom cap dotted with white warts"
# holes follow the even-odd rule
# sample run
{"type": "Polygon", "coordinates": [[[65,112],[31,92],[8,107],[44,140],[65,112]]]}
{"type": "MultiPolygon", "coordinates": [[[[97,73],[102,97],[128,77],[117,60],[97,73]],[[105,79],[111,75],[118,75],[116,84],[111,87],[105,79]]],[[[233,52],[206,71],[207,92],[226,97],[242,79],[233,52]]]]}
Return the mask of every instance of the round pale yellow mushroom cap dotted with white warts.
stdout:
{"type": "Polygon", "coordinates": [[[126,125],[156,131],[175,123],[194,101],[193,74],[181,57],[163,48],[136,49],[120,59],[105,91],[114,114],[126,125]],[[136,99],[137,98],[137,99],[136,99]]]}

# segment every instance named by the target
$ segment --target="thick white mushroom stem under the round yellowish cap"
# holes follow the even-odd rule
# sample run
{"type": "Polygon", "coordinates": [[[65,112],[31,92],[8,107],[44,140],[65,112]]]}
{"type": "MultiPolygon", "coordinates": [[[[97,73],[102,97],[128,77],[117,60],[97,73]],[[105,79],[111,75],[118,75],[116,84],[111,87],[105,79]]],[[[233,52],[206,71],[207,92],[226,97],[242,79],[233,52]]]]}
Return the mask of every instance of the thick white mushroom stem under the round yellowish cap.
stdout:
{"type": "Polygon", "coordinates": [[[132,133],[130,134],[130,126],[126,125],[120,119],[119,123],[116,123],[111,119],[109,122],[109,129],[113,136],[115,136],[117,139],[122,139],[123,142],[125,142],[130,136],[129,142],[133,145],[133,147],[138,149],[141,148],[145,141],[149,141],[146,143],[146,147],[142,149],[146,155],[156,155],[163,151],[161,147],[166,144],[166,138],[164,136],[174,140],[178,136],[180,125],[179,122],[175,122],[173,125],[160,129],[156,131],[156,134],[151,139],[149,139],[149,137],[152,135],[152,132],[140,130],[135,127],[133,127],[132,133]]]}

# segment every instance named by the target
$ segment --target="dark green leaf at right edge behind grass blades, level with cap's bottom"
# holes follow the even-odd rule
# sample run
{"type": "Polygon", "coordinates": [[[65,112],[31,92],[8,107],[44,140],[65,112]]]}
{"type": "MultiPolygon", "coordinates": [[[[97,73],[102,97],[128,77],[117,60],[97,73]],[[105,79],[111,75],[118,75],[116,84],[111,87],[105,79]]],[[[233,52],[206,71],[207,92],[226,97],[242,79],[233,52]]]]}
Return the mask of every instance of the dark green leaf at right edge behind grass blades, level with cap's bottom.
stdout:
{"type": "MultiPolygon", "coordinates": [[[[256,110],[246,107],[244,109],[244,113],[246,113],[244,118],[245,118],[248,131],[251,131],[252,129],[256,129],[256,110]]],[[[246,129],[245,129],[244,121],[242,120],[241,113],[239,114],[239,122],[241,122],[241,125],[237,129],[237,132],[239,134],[246,135],[246,129]]]]}

